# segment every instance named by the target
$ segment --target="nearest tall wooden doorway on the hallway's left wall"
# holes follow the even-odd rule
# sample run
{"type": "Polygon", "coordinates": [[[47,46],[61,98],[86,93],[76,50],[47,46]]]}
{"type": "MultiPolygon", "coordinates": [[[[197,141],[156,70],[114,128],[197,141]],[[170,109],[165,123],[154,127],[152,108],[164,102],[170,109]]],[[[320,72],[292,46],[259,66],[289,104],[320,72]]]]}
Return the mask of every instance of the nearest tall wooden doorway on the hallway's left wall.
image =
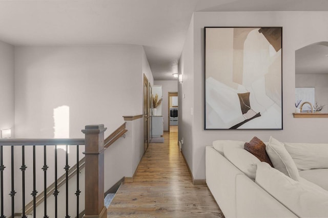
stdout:
{"type": "Polygon", "coordinates": [[[149,145],[149,84],[144,74],[144,152],[149,145]]]}

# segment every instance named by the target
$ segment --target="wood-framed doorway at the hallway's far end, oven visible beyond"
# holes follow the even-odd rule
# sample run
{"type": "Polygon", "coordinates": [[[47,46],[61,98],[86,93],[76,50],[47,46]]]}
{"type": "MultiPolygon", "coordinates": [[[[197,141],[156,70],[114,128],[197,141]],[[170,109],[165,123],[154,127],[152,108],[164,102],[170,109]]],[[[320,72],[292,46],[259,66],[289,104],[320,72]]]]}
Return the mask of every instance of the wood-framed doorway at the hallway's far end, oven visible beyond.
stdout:
{"type": "Polygon", "coordinates": [[[168,93],[168,131],[178,131],[178,92],[168,93]]]}

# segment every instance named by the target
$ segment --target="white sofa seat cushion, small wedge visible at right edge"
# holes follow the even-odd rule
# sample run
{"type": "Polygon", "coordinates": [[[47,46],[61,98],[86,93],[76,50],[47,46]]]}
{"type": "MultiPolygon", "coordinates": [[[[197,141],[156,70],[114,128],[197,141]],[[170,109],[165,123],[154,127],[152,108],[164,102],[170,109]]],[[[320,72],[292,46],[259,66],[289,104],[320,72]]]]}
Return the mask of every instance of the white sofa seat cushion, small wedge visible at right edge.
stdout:
{"type": "Polygon", "coordinates": [[[328,168],[300,171],[299,176],[328,191],[328,168]]]}

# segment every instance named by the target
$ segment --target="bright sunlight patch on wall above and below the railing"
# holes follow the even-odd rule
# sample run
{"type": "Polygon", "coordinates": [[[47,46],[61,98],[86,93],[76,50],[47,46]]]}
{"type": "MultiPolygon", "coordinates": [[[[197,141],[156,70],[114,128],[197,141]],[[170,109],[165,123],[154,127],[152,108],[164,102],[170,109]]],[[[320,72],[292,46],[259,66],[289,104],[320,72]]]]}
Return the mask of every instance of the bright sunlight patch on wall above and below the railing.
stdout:
{"type": "MultiPolygon", "coordinates": [[[[70,107],[60,106],[53,109],[54,120],[54,138],[69,138],[70,137],[70,107]]],[[[57,146],[57,149],[66,151],[66,145],[57,146]]],[[[69,152],[69,150],[68,150],[69,152]]]]}

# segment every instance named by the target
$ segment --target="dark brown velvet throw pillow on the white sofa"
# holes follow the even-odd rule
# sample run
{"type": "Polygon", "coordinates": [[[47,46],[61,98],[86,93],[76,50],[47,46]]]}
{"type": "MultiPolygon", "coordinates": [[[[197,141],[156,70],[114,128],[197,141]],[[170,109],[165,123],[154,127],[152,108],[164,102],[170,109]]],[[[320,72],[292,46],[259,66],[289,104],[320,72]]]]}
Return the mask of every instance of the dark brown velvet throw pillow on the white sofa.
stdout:
{"type": "Polygon", "coordinates": [[[273,167],[267,151],[265,151],[264,142],[256,136],[250,142],[245,142],[244,149],[257,157],[261,162],[267,162],[273,167]]]}

